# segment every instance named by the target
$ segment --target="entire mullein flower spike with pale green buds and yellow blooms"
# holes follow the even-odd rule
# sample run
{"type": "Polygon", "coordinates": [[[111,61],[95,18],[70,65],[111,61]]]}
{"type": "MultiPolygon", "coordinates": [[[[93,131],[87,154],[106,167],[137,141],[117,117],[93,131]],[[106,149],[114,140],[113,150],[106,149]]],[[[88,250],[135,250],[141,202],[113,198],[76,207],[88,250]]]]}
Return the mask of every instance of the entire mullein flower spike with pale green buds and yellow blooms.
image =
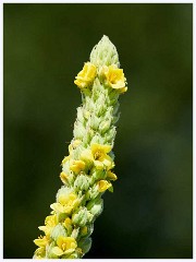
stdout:
{"type": "Polygon", "coordinates": [[[74,83],[82,93],[69,156],[62,160],[63,186],[50,205],[51,213],[39,229],[44,236],[34,259],[79,259],[90,249],[94,222],[103,207],[106,190],[112,181],[115,122],[119,96],[126,92],[126,79],[120,69],[114,45],[107,36],[96,45],[74,83]]]}

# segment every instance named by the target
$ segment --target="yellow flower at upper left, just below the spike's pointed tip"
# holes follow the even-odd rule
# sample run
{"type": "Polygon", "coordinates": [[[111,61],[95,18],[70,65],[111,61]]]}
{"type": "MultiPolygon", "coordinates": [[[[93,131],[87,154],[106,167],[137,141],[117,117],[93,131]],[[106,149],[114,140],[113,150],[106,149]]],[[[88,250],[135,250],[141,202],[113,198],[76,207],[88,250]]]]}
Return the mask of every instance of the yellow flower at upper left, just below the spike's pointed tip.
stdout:
{"type": "Polygon", "coordinates": [[[95,76],[96,76],[96,67],[90,62],[86,62],[83,67],[83,70],[75,78],[76,80],[74,81],[74,83],[79,88],[85,88],[89,84],[91,84],[95,76]]]}

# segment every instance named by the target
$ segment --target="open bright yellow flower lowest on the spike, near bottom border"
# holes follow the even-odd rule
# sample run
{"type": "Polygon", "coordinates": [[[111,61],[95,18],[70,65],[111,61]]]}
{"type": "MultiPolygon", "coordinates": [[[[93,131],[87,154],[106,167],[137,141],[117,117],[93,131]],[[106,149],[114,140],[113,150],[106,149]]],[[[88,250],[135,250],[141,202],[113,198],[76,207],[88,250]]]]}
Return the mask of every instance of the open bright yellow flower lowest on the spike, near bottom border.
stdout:
{"type": "Polygon", "coordinates": [[[54,247],[52,249],[52,252],[58,257],[61,257],[63,254],[71,254],[77,248],[77,242],[75,241],[75,239],[73,237],[60,236],[57,239],[57,245],[58,245],[58,247],[54,247]]]}

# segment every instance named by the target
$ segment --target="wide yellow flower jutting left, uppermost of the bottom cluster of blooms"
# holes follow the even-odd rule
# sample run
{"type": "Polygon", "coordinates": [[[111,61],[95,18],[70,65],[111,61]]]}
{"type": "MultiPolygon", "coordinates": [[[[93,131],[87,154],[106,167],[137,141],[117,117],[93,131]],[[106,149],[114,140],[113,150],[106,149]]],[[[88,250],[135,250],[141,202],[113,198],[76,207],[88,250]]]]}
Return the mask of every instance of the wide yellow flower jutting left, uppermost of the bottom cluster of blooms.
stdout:
{"type": "Polygon", "coordinates": [[[70,214],[71,211],[79,203],[75,193],[60,194],[58,199],[59,203],[53,203],[50,207],[59,213],[70,214]]]}

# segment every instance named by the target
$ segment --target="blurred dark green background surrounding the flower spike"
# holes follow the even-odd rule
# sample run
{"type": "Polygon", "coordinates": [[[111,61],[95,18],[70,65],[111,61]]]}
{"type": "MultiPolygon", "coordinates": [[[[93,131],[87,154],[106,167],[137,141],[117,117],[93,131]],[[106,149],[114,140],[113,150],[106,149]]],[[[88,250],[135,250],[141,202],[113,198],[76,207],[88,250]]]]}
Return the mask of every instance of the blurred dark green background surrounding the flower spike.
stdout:
{"type": "Polygon", "coordinates": [[[4,4],[4,258],[36,249],[81,104],[74,76],[103,34],[128,92],[119,180],[86,258],[192,258],[192,12],[177,3],[4,4]]]}

